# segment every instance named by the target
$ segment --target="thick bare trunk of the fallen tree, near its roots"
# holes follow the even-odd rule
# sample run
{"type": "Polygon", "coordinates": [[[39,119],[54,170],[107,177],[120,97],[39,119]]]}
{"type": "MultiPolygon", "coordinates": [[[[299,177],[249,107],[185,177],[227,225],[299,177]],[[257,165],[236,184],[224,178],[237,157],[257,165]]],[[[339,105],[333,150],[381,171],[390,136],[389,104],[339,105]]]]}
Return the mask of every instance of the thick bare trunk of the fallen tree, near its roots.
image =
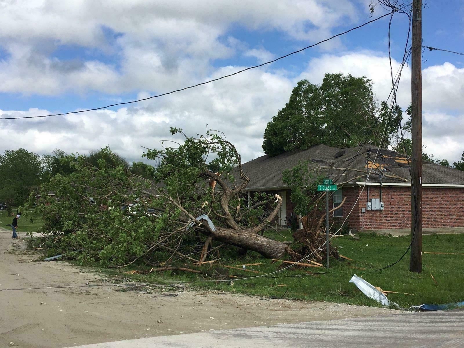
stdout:
{"type": "Polygon", "coordinates": [[[213,235],[214,240],[259,252],[266,258],[282,258],[288,249],[284,243],[247,230],[218,228],[213,235]]]}

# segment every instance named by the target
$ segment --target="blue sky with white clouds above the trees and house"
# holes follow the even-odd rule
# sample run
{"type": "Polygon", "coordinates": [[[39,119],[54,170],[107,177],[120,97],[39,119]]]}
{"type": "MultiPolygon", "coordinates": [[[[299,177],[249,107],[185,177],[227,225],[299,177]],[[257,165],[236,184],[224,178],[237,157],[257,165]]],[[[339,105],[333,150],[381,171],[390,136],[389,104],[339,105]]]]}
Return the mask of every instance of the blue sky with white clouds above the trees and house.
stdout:
{"type": "MultiPolygon", "coordinates": [[[[464,52],[464,4],[427,2],[423,44],[464,52]]],[[[129,162],[143,147],[218,129],[242,161],[263,155],[264,129],[296,83],[324,73],[366,76],[385,100],[391,88],[388,17],[264,67],[149,101],[101,107],[176,90],[261,64],[358,26],[387,11],[370,0],[0,0],[0,153],[26,148],[40,155],[110,146],[129,162]]],[[[408,32],[393,16],[396,71],[408,32]]],[[[411,100],[411,69],[398,91],[411,100]]],[[[425,50],[423,142],[436,158],[458,161],[464,151],[464,56],[425,50]]]]}

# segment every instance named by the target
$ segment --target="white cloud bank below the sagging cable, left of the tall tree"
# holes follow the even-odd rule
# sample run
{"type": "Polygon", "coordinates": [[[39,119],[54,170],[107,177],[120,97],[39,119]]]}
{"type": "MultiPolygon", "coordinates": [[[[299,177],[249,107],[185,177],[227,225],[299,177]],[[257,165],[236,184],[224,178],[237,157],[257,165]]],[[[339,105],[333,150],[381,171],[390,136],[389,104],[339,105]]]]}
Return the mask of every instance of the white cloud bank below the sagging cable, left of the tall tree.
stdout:
{"type": "MultiPolygon", "coordinates": [[[[217,77],[241,67],[225,67],[217,77]]],[[[208,128],[225,132],[244,161],[263,155],[264,128],[288,99],[293,82],[270,72],[254,70],[227,80],[171,96],[151,99],[135,107],[116,111],[99,110],[69,116],[52,116],[21,121],[1,121],[0,137],[8,139],[0,150],[26,147],[39,154],[54,148],[87,153],[110,145],[129,161],[140,160],[145,146],[160,147],[172,139],[170,127],[187,134],[202,134],[208,128]],[[11,137],[14,127],[16,136],[11,137]]],[[[145,93],[139,97],[145,97],[145,93]]],[[[38,116],[47,110],[1,111],[0,117],[38,116]]],[[[175,138],[179,140],[179,138],[175,138]]]]}

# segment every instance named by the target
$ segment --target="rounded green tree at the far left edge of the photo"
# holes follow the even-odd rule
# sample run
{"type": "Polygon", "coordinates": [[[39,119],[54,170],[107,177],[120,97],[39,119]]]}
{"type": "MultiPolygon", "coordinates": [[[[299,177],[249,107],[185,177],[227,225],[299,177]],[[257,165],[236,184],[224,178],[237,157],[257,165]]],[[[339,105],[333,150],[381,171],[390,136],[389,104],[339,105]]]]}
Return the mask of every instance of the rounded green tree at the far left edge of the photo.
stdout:
{"type": "Polygon", "coordinates": [[[41,180],[40,156],[24,148],[6,150],[0,155],[0,200],[22,205],[41,180]]]}

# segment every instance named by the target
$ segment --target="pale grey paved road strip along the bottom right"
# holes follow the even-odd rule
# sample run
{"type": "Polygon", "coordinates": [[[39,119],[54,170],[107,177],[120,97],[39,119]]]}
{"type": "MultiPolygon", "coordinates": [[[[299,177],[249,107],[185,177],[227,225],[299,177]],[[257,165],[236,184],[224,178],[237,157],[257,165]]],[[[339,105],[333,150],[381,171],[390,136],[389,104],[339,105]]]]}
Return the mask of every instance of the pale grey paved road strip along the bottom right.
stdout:
{"type": "Polygon", "coordinates": [[[79,348],[464,347],[464,310],[303,322],[79,348]]]}

